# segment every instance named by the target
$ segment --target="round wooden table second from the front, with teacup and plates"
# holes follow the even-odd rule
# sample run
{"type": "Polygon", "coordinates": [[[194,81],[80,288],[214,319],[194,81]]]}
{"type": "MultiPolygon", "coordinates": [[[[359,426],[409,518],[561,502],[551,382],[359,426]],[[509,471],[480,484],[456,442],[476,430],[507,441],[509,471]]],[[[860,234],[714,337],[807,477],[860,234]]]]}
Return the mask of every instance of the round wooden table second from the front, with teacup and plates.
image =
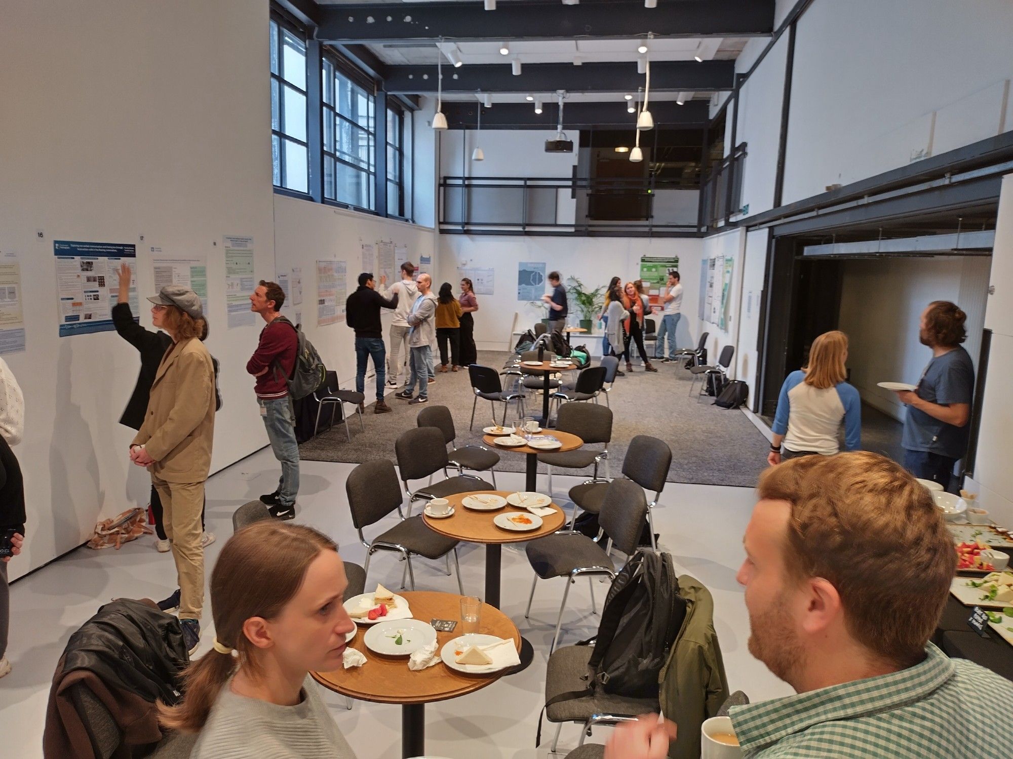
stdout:
{"type": "MultiPolygon", "coordinates": [[[[527,447],[527,446],[525,446],[527,447]]],[[[529,490],[531,490],[529,488],[529,490]]],[[[510,490],[476,490],[470,493],[457,493],[447,496],[450,505],[454,507],[454,515],[444,519],[434,519],[422,512],[422,521],[434,532],[455,540],[485,543],[485,602],[499,608],[499,568],[502,556],[502,544],[505,542],[527,542],[539,537],[551,535],[563,526],[566,517],[563,510],[556,504],[550,504],[554,514],[542,517],[542,526],[529,532],[511,532],[492,523],[496,514],[504,512],[525,512],[519,506],[506,504],[495,511],[473,511],[461,503],[467,496],[496,495],[505,498],[514,491],[510,490]]]]}

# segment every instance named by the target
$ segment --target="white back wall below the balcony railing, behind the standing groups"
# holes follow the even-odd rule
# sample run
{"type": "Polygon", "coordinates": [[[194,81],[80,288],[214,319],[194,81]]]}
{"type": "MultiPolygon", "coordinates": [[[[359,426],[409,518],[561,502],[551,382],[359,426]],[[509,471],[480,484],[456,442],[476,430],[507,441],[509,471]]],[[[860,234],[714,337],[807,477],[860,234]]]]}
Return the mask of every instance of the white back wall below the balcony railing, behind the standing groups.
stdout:
{"type": "MultiPolygon", "coordinates": [[[[585,286],[607,285],[613,276],[623,281],[639,275],[641,256],[679,256],[679,271],[685,288],[678,345],[695,345],[700,256],[703,242],[696,239],[569,238],[443,235],[440,237],[441,281],[455,283],[458,267],[495,269],[495,291],[479,296],[475,314],[475,343],[479,349],[512,348],[515,329],[528,329],[543,318],[541,310],[517,300],[517,271],[520,261],[544,261],[546,274],[553,269],[563,276],[576,276],[585,286]]],[[[575,326],[580,316],[570,308],[569,321],[575,326]]],[[[596,322],[595,330],[601,328],[596,322]]],[[[574,337],[574,344],[582,337],[574,337]]],[[[601,344],[601,336],[589,338],[588,345],[601,344]]]]}

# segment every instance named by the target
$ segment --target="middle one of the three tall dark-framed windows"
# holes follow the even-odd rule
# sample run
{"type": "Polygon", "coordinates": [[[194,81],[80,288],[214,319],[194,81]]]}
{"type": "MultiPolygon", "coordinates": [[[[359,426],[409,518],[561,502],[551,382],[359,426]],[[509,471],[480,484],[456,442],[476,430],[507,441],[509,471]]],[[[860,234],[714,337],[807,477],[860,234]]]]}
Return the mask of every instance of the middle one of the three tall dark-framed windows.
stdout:
{"type": "Polygon", "coordinates": [[[370,210],[376,207],[373,110],[373,93],[324,59],[323,194],[370,210]]]}

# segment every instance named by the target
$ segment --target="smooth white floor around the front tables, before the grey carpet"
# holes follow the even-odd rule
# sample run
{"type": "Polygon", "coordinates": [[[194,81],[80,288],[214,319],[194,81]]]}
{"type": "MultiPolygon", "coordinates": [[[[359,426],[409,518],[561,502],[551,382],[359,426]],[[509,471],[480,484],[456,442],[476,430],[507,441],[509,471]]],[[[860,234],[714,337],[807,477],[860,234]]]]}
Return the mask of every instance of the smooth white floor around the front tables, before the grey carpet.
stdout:
{"type": "MultiPolygon", "coordinates": [[[[352,465],[304,461],[299,493],[299,521],[331,535],[341,555],[363,563],[365,550],[358,542],[348,514],[344,478],[352,465]]],[[[222,543],[232,532],[231,515],[237,506],[274,490],[279,468],[269,449],[219,473],[208,483],[208,529],[218,541],[208,549],[210,568],[222,543]]],[[[497,474],[500,488],[520,488],[522,474],[497,474]]],[[[559,499],[576,482],[555,477],[559,499]]],[[[540,485],[545,487],[544,480],[540,485]]],[[[557,499],[557,500],[559,500],[557,499]]],[[[562,501],[559,501],[560,503],[562,501]]],[[[743,559],[742,535],[753,506],[753,491],[745,488],[676,485],[670,483],[655,511],[661,547],[669,551],[680,572],[697,577],[714,594],[715,627],[724,655],[732,690],[743,689],[753,700],[791,693],[747,651],[749,618],[735,572],[743,559]]],[[[462,544],[461,570],[465,591],[481,595],[484,549],[462,544]]],[[[413,562],[419,589],[457,591],[457,582],[443,572],[443,563],[413,562]]],[[[502,557],[502,602],[505,611],[535,646],[535,661],[526,671],[450,701],[426,707],[426,753],[435,756],[544,757],[552,728],[545,731],[541,748],[535,748],[535,730],[544,701],[545,662],[562,596],[562,580],[540,582],[531,619],[524,617],[532,571],[521,547],[506,547],[502,557]]],[[[382,581],[399,587],[401,570],[383,554],[375,556],[368,583],[382,581]]],[[[120,551],[78,549],[63,559],[14,583],[11,588],[11,623],[8,657],[13,672],[0,680],[0,741],[3,756],[31,759],[42,756],[46,704],[57,660],[71,632],[97,607],[115,597],[163,598],[174,589],[174,569],[169,554],[158,554],[153,538],[145,536],[120,551]]],[[[599,604],[607,586],[597,586],[599,604]]],[[[589,638],[598,618],[590,612],[587,583],[571,589],[563,621],[563,645],[589,638]]],[[[205,613],[202,651],[210,649],[210,599],[205,613]]],[[[400,756],[400,707],[356,702],[348,711],[344,699],[325,692],[335,720],[360,757],[400,756]]],[[[607,731],[590,739],[604,742],[607,731]]],[[[576,746],[579,729],[563,727],[559,752],[576,746]]]]}

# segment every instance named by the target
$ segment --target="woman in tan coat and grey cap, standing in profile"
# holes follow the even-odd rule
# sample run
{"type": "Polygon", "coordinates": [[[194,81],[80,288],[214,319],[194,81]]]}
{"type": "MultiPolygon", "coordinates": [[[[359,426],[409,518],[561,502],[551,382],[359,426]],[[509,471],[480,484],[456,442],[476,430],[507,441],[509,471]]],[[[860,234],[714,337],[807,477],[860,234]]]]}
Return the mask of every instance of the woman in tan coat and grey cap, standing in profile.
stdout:
{"type": "Polygon", "coordinates": [[[215,433],[215,368],[200,339],[205,326],[201,299],[185,287],[168,285],[148,300],[154,304],[155,329],[165,330],[173,344],[155,373],[130,457],[148,469],[162,500],[179,581],[179,620],[192,654],[201,640],[204,607],[201,511],[215,433]]]}

